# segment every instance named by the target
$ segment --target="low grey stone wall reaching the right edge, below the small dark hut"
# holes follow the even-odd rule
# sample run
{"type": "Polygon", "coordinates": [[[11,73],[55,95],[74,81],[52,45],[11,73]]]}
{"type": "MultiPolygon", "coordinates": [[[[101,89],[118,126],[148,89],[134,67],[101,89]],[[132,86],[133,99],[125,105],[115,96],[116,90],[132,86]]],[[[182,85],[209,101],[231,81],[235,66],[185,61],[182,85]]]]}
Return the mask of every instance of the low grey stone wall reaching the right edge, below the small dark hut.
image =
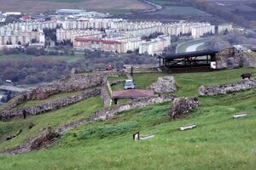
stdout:
{"type": "Polygon", "coordinates": [[[229,94],[240,90],[247,90],[256,88],[256,79],[245,79],[241,82],[235,82],[230,84],[220,84],[216,86],[201,86],[198,90],[199,95],[217,95],[217,94],[229,94]]]}

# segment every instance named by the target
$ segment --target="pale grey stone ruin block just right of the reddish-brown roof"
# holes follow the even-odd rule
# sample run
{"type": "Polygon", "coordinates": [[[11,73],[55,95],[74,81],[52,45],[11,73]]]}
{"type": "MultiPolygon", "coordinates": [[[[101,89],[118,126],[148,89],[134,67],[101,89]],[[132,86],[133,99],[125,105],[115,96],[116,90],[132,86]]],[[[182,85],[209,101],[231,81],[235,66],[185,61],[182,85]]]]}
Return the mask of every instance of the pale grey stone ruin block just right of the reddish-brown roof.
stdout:
{"type": "Polygon", "coordinates": [[[154,90],[158,94],[173,93],[177,91],[174,77],[159,77],[157,82],[154,82],[149,89],[154,90]]]}

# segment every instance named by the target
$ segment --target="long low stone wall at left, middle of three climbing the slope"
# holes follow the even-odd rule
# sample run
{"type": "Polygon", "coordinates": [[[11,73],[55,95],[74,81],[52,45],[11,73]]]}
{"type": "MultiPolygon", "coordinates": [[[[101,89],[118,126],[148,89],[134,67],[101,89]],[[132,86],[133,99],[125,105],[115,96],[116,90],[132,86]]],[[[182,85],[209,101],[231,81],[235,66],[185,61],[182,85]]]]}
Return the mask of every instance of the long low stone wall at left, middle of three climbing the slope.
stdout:
{"type": "MultiPolygon", "coordinates": [[[[56,99],[42,105],[28,107],[26,108],[26,111],[27,111],[27,114],[29,115],[38,115],[48,111],[55,111],[57,109],[60,109],[61,107],[74,104],[83,99],[88,99],[90,97],[93,97],[99,94],[101,94],[101,88],[94,88],[94,89],[84,91],[81,94],[69,96],[63,99],[56,99]]],[[[24,109],[5,109],[3,111],[0,111],[0,119],[9,118],[13,116],[22,116],[23,110],[24,109]]]]}

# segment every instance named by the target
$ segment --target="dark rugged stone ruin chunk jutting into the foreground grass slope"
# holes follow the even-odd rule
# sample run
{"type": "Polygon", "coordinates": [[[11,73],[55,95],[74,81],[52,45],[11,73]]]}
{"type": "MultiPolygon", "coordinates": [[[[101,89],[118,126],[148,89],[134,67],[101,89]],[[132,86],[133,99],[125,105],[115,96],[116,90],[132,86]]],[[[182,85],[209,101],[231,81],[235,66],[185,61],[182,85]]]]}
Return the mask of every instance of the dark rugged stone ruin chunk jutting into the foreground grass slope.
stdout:
{"type": "Polygon", "coordinates": [[[172,118],[182,117],[188,114],[190,111],[199,106],[200,102],[198,98],[176,98],[172,102],[172,106],[169,115],[172,118]]]}

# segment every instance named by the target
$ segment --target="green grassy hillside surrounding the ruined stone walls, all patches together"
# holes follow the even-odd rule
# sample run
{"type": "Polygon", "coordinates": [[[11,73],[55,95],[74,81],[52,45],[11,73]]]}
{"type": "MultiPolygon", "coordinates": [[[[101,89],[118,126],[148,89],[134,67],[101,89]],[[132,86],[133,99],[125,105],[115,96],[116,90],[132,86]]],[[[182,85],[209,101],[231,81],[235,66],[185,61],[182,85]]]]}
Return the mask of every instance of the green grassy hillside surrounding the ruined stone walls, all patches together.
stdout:
{"type": "MultiPolygon", "coordinates": [[[[241,73],[252,71],[255,69],[175,74],[176,94],[195,96],[202,84],[236,82],[241,73]]],[[[162,75],[135,75],[134,80],[138,88],[145,88],[159,76],[162,75]]],[[[93,122],[69,130],[47,150],[0,156],[0,169],[253,169],[256,167],[255,99],[256,89],[200,97],[201,106],[176,121],[167,115],[169,102],[125,111],[109,122],[93,122]],[[233,119],[232,115],[238,112],[248,112],[249,116],[233,119]],[[190,122],[197,127],[185,132],[178,130],[190,122]],[[132,141],[132,133],[138,130],[141,134],[154,133],[154,139],[132,141]]],[[[38,129],[48,123],[55,127],[89,116],[100,107],[99,98],[87,99],[59,111],[29,116],[26,121],[37,120],[38,129]],[[84,114],[76,116],[79,111],[84,114]]],[[[1,136],[22,122],[18,118],[1,122],[1,136]]],[[[26,131],[14,140],[2,142],[1,150],[20,144],[29,133],[26,131]]]]}

